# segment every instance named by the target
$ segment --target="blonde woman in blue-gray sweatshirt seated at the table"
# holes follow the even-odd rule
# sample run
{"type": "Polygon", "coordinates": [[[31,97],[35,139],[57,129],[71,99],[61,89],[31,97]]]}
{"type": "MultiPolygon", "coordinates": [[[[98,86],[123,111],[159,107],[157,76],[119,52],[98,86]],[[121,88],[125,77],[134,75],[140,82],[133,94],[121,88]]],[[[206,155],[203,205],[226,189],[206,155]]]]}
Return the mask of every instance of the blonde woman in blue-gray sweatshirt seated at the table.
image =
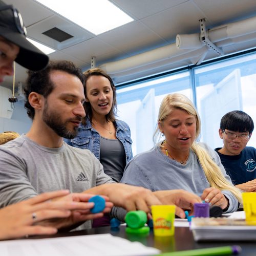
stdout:
{"type": "Polygon", "coordinates": [[[200,117],[184,95],[165,96],[158,115],[150,151],[134,157],[124,170],[123,183],[144,186],[152,191],[185,189],[205,202],[231,212],[242,202],[241,192],[231,183],[218,154],[198,143],[200,117]]]}

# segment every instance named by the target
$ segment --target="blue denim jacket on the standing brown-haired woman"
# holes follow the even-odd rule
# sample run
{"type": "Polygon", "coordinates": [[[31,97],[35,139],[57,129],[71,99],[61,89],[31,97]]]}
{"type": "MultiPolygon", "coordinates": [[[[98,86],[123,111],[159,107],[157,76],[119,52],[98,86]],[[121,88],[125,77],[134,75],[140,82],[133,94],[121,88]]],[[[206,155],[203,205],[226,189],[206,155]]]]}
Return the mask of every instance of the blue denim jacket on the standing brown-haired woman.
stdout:
{"type": "MultiPolygon", "coordinates": [[[[132,138],[130,127],[121,120],[114,122],[116,126],[116,137],[121,141],[124,147],[126,164],[133,158],[132,138]]],[[[100,134],[92,127],[88,117],[86,117],[86,125],[80,124],[78,134],[74,139],[64,139],[69,145],[90,150],[96,158],[100,155],[100,134]]]]}

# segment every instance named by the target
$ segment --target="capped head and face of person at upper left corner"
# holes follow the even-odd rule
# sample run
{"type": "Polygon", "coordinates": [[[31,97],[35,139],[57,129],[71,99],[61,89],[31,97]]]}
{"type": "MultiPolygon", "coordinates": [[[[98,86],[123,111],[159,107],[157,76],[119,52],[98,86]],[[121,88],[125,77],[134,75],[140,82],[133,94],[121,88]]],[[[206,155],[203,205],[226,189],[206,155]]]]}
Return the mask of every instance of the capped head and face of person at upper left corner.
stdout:
{"type": "Polygon", "coordinates": [[[26,27],[18,10],[0,0],[1,78],[3,75],[12,75],[14,60],[33,71],[47,66],[49,57],[31,44],[26,34],[26,27]]]}

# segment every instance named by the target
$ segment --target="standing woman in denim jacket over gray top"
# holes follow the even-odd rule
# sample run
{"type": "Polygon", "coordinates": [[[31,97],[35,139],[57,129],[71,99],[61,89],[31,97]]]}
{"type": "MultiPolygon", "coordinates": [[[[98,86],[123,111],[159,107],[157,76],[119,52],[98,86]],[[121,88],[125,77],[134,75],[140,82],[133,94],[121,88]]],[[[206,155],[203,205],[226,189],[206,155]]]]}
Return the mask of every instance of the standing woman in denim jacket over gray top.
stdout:
{"type": "Polygon", "coordinates": [[[90,150],[100,160],[104,172],[119,182],[126,163],[133,157],[130,127],[115,117],[116,88],[111,77],[98,68],[89,69],[84,76],[87,116],[77,136],[65,141],[90,150]]]}

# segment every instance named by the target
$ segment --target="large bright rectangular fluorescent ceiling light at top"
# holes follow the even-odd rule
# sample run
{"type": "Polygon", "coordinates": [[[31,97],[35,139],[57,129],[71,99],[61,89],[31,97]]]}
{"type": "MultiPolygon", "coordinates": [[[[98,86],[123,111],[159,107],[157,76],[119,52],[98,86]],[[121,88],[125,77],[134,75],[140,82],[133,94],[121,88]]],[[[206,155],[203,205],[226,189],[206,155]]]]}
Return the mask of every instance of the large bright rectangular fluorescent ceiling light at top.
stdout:
{"type": "Polygon", "coordinates": [[[108,0],[36,0],[95,35],[134,19],[108,0]]]}

